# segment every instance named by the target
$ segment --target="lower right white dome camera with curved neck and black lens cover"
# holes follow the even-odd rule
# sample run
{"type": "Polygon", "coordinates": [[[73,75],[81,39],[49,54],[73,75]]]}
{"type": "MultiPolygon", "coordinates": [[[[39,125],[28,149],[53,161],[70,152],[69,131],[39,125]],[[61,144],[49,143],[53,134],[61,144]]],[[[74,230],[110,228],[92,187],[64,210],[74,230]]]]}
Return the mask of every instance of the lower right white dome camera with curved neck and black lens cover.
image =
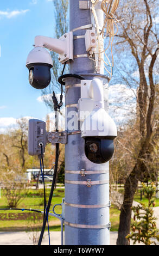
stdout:
{"type": "Polygon", "coordinates": [[[85,139],[87,159],[93,163],[105,163],[113,155],[113,140],[117,137],[117,127],[104,109],[101,81],[92,80],[91,87],[94,94],[94,108],[82,123],[81,137],[85,139]]]}

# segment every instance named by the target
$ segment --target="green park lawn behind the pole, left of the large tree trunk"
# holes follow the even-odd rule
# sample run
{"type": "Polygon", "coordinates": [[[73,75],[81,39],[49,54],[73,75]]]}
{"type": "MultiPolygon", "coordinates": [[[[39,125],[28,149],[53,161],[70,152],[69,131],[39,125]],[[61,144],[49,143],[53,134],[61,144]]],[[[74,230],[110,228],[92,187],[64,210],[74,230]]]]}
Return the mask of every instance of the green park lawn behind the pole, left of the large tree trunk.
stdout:
{"type": "MultiPolygon", "coordinates": [[[[50,188],[46,189],[46,195],[47,200],[49,197],[50,188]]],[[[50,207],[50,212],[52,212],[52,208],[55,204],[62,203],[62,198],[65,197],[65,190],[64,188],[56,188],[54,190],[54,195],[52,199],[52,205],[50,207]]],[[[0,199],[0,208],[8,208],[7,206],[7,200],[3,197],[2,192],[2,198],[0,199]]],[[[17,208],[26,208],[26,209],[36,209],[36,210],[42,210],[43,211],[43,189],[39,190],[29,190],[27,197],[25,197],[20,204],[18,204],[17,208]]],[[[56,206],[55,212],[57,214],[61,214],[61,206],[56,206]]],[[[31,214],[33,215],[33,212],[31,211],[20,211],[20,210],[9,210],[9,211],[0,211],[0,216],[5,214],[5,220],[0,220],[0,231],[26,231],[28,230],[28,216],[31,214]],[[26,220],[18,220],[16,218],[16,215],[20,214],[21,216],[26,216],[26,220]],[[9,216],[14,218],[15,220],[9,220],[9,216]]],[[[119,226],[119,214],[120,211],[113,207],[113,205],[110,208],[110,222],[111,222],[111,231],[117,231],[119,226]]],[[[42,227],[42,214],[36,214],[39,215],[39,225],[38,228],[41,230],[42,227]]],[[[25,218],[25,217],[24,217],[25,218]]],[[[49,216],[49,230],[50,231],[60,231],[60,220],[58,218],[55,218],[53,216],[49,216]]],[[[47,230],[47,225],[46,225],[47,230]]]]}

